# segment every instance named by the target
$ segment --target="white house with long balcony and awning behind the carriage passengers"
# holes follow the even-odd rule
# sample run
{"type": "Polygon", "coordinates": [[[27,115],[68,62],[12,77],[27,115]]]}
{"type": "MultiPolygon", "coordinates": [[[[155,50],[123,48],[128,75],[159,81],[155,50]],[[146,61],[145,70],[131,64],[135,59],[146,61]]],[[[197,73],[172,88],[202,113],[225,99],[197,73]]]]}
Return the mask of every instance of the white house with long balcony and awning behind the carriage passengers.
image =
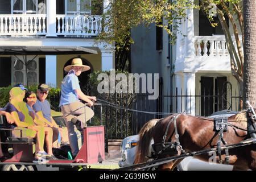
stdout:
{"type": "Polygon", "coordinates": [[[77,56],[91,71],[114,68],[114,46],[95,42],[108,4],[102,0],[102,11],[94,12],[90,0],[1,0],[0,86],[60,86],[63,68],[77,56]]]}

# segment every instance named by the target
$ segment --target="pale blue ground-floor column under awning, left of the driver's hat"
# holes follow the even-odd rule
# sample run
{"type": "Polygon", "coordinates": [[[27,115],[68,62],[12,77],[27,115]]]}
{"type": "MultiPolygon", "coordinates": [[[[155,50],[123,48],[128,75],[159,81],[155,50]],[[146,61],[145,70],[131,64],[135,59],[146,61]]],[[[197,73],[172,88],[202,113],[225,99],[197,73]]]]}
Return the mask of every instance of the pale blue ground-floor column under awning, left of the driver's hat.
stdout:
{"type": "Polygon", "coordinates": [[[46,84],[57,85],[57,56],[46,55],[46,84]]]}

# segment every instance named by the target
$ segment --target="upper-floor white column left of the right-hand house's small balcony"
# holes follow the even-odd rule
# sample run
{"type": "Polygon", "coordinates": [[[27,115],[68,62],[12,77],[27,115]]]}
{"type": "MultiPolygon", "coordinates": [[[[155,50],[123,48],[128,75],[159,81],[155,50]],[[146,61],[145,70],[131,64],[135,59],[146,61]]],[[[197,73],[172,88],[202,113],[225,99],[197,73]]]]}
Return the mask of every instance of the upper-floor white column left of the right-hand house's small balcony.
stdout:
{"type": "MultiPolygon", "coordinates": [[[[193,0],[191,0],[193,3],[193,0]]],[[[185,57],[194,57],[195,55],[195,46],[193,39],[195,36],[194,32],[194,15],[193,9],[186,10],[187,17],[185,19],[185,57]]]]}

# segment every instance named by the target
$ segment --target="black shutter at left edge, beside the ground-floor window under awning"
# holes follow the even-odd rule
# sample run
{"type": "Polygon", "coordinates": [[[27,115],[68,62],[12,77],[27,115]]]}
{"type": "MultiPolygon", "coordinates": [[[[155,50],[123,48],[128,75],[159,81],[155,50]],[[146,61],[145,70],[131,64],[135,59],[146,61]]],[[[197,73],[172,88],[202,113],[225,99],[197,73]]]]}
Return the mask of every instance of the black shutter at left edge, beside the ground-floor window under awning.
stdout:
{"type": "Polygon", "coordinates": [[[11,57],[0,57],[0,87],[11,85],[11,57]]]}

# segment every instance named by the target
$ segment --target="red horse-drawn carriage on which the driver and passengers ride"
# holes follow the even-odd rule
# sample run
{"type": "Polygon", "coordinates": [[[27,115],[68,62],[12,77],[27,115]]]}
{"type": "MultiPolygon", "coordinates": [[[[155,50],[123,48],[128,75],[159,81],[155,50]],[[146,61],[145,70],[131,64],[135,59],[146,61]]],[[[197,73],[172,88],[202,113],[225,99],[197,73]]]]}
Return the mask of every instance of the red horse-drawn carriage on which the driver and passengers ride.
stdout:
{"type": "MultiPolygon", "coordinates": [[[[100,106],[102,111],[101,104],[95,105],[100,106]]],[[[2,166],[1,169],[3,171],[32,171],[37,169],[36,165],[43,165],[46,167],[59,167],[63,169],[83,169],[86,168],[89,164],[101,163],[105,160],[105,132],[104,126],[102,125],[85,126],[82,129],[84,142],[82,143],[79,153],[75,159],[47,161],[44,158],[40,158],[38,163],[33,163],[35,140],[33,138],[23,137],[22,130],[20,130],[19,138],[12,137],[11,131],[15,129],[10,129],[7,127],[7,122],[4,117],[2,117],[2,121],[3,123],[0,129],[0,133],[5,133],[5,140],[1,140],[0,144],[2,144],[2,146],[5,145],[9,151],[12,151],[11,158],[2,160],[0,162],[0,165],[2,166]]]]}

